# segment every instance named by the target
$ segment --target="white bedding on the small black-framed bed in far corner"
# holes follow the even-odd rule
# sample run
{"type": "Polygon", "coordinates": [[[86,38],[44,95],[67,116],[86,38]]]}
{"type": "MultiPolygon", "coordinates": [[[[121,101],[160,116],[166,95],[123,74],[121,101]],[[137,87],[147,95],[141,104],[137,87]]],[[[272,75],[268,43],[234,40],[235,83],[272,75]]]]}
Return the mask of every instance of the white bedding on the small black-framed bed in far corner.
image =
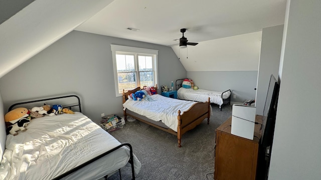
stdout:
{"type": "MultiPolygon", "coordinates": [[[[223,99],[221,98],[222,92],[205,89],[194,90],[192,88],[181,87],[177,91],[177,97],[179,99],[194,100],[199,102],[207,101],[210,97],[211,103],[219,104],[221,107],[223,104],[223,99]]],[[[223,98],[228,98],[230,95],[231,92],[227,91],[223,94],[223,98]]]]}

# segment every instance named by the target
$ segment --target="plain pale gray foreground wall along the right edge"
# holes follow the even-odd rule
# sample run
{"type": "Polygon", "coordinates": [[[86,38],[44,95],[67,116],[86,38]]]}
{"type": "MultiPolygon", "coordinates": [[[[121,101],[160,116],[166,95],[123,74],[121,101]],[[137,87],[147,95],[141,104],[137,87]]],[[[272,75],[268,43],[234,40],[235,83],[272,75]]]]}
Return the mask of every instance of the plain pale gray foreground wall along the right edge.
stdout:
{"type": "Polygon", "coordinates": [[[321,179],[321,2],[288,3],[269,179],[321,179]]]}

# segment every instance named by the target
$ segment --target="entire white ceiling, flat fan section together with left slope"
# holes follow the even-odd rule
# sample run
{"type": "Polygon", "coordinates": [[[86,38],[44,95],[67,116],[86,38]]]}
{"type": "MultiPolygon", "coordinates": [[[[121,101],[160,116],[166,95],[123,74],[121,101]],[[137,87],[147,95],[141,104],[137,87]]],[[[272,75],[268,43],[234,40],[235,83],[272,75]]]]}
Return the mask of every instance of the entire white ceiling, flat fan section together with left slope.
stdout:
{"type": "MultiPolygon", "coordinates": [[[[0,1],[2,9],[10,9],[4,4],[0,1]]],[[[176,51],[174,39],[182,36],[181,28],[188,29],[184,35],[190,42],[200,44],[257,32],[283,24],[285,4],[286,0],[29,0],[0,24],[0,77],[74,29],[168,45],[176,51]]]]}

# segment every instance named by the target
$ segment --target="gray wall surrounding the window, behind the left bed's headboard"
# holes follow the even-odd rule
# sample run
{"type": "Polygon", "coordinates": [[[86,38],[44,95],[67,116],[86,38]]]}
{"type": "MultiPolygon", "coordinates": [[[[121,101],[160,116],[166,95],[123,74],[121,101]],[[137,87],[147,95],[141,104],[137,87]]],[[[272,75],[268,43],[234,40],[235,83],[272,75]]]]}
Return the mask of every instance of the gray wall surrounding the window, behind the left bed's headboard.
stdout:
{"type": "Polygon", "coordinates": [[[5,110],[21,99],[76,93],[84,114],[95,122],[101,113],[122,115],[122,97],[115,97],[110,44],[158,49],[159,84],[186,76],[171,47],[72,31],[0,78],[5,110]]]}

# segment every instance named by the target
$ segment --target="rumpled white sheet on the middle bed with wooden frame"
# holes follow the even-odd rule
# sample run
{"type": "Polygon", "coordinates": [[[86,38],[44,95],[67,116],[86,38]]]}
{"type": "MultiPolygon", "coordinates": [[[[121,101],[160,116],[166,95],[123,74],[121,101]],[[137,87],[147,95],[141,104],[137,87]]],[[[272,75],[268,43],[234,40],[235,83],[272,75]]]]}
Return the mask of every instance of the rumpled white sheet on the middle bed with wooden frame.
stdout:
{"type": "MultiPolygon", "coordinates": [[[[188,100],[169,98],[159,94],[154,94],[150,97],[154,99],[154,101],[144,99],[141,101],[126,100],[126,102],[123,103],[123,109],[125,110],[127,108],[151,120],[162,120],[163,123],[176,132],[178,127],[178,111],[181,110],[181,114],[183,114],[184,111],[187,111],[196,103],[188,100]]],[[[210,110],[212,110],[212,108],[210,108],[210,110]]]]}

